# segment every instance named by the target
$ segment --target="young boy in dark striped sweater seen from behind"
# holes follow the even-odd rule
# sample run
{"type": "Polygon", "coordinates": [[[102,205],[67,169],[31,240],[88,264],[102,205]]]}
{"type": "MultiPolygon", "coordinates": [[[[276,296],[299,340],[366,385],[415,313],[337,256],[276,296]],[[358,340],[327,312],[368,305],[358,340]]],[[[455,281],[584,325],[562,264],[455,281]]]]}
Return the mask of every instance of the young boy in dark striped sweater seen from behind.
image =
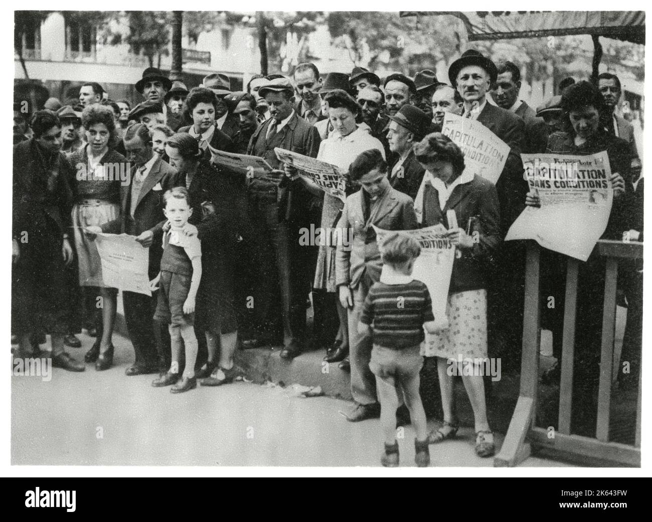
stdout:
{"type": "Polygon", "coordinates": [[[426,413],[419,395],[419,371],[423,365],[419,346],[424,340],[424,327],[428,333],[435,333],[439,327],[432,314],[428,288],[412,278],[415,259],[421,254],[419,243],[399,232],[391,234],[383,243],[383,275],[370,288],[358,323],[359,334],[372,335],[374,340],[369,368],[376,376],[385,438],[381,463],[385,467],[398,466],[396,388],[400,385],[417,435],[415,462],[418,467],[427,467],[430,452],[426,413]]]}

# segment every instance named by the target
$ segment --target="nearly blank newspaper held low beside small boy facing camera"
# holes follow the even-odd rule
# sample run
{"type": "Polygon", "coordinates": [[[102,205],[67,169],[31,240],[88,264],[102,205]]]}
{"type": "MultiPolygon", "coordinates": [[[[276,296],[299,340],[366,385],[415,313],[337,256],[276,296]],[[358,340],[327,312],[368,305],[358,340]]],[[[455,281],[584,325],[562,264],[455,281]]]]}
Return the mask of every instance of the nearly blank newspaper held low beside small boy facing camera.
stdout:
{"type": "Polygon", "coordinates": [[[102,279],[112,288],[152,295],[149,290],[149,249],[127,234],[97,234],[102,279]]]}

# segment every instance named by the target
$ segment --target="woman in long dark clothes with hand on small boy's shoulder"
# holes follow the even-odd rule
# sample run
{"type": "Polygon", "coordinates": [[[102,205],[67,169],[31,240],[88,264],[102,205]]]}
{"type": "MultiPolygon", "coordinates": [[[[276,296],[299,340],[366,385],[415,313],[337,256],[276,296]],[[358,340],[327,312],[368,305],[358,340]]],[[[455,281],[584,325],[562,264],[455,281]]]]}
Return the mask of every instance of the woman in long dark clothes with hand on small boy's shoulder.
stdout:
{"type": "MultiPolygon", "coordinates": [[[[192,93],[191,93],[192,94],[192,93]]],[[[208,361],[196,372],[206,378],[201,384],[217,386],[235,377],[233,353],[237,342],[234,305],[235,249],[239,240],[239,182],[234,176],[215,169],[204,156],[196,139],[177,133],[165,146],[170,163],[177,169],[173,186],[190,193],[192,215],[186,233],[201,241],[201,282],[197,296],[196,330],[203,331],[208,361]],[[220,338],[216,361],[217,338],[220,338]]]]}

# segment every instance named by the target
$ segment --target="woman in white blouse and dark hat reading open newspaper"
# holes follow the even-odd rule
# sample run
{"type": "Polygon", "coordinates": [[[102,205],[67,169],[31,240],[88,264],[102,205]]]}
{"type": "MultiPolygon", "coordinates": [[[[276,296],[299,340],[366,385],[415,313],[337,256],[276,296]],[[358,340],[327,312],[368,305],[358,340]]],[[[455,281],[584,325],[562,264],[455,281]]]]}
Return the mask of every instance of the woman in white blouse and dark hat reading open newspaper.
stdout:
{"type": "MultiPolygon", "coordinates": [[[[333,126],[333,130],[329,133],[327,139],[323,140],[319,145],[317,159],[331,163],[346,172],[349,170],[351,162],[365,150],[378,149],[385,158],[383,144],[356,123],[355,120],[361,115],[362,109],[352,96],[342,89],[334,89],[326,94],[324,103],[328,107],[329,124],[333,126]]],[[[324,357],[324,361],[336,363],[342,361],[349,352],[348,315],[346,309],[340,305],[336,298],[336,243],[331,241],[331,238],[328,238],[327,241],[325,234],[329,234],[329,231],[336,228],[342,214],[342,208],[344,208],[344,202],[324,193],[321,188],[304,180],[304,178],[301,179],[314,194],[323,195],[323,208],[321,210],[321,230],[323,232],[319,238],[319,253],[313,288],[328,292],[331,299],[328,299],[325,305],[337,308],[340,327],[333,346],[328,346],[324,357]]],[[[330,343],[330,341],[328,342],[330,343]]]]}

